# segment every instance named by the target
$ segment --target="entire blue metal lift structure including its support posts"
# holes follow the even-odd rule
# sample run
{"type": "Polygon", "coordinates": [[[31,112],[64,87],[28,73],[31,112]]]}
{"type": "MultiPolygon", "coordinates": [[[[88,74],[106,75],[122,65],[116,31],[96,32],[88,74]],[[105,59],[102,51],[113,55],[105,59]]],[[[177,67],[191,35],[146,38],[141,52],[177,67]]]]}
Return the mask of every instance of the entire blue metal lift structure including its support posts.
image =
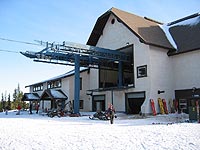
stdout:
{"type": "Polygon", "coordinates": [[[118,86],[122,86],[122,64],[131,64],[131,57],[118,50],[105,49],[78,43],[55,44],[40,41],[46,48],[39,52],[20,52],[36,62],[75,66],[74,113],[79,114],[80,67],[112,68],[118,70],[118,86]]]}

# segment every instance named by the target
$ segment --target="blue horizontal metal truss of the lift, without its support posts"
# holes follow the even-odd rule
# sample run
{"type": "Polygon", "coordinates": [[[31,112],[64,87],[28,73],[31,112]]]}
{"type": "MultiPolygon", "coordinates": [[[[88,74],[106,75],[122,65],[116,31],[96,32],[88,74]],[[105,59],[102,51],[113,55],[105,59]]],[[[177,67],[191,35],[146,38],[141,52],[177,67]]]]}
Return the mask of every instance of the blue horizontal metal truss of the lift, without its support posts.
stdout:
{"type": "Polygon", "coordinates": [[[80,56],[80,65],[84,67],[110,67],[116,68],[119,62],[130,63],[131,57],[117,50],[110,50],[78,43],[63,42],[54,44],[40,42],[46,48],[39,52],[20,52],[34,61],[75,65],[75,55],[80,56]]]}

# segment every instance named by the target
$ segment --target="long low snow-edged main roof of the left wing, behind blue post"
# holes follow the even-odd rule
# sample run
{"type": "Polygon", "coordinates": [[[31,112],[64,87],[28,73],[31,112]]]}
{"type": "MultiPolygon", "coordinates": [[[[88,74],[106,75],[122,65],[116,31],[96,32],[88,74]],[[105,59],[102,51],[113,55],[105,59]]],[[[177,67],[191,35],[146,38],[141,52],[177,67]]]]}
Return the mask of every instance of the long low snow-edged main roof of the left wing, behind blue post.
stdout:
{"type": "MultiPolygon", "coordinates": [[[[86,68],[86,67],[80,67],[80,72],[87,71],[88,69],[89,68],[86,68]]],[[[73,70],[71,70],[67,73],[62,74],[62,75],[55,76],[53,78],[50,78],[50,79],[47,79],[47,80],[44,80],[44,81],[41,81],[41,82],[37,82],[37,83],[31,84],[31,85],[27,85],[26,87],[30,87],[30,86],[37,85],[37,84],[42,84],[42,83],[45,83],[45,82],[48,82],[48,81],[55,81],[55,80],[58,80],[58,79],[67,78],[67,77],[74,75],[74,73],[75,73],[75,70],[73,69],[73,70]]]]}

